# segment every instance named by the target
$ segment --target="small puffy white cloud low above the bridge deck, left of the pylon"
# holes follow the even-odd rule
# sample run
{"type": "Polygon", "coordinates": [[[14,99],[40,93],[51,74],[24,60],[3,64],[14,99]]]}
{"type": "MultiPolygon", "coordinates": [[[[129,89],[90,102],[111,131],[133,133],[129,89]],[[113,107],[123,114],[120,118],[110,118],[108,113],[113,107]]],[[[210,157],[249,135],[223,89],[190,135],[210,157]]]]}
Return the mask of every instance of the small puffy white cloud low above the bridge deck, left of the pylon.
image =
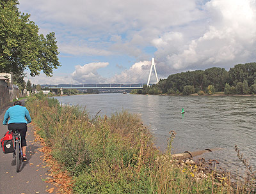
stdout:
{"type": "Polygon", "coordinates": [[[97,84],[104,82],[105,78],[101,77],[97,70],[105,68],[109,63],[88,63],[84,66],[76,65],[76,71],[71,76],[79,84],[97,84]]]}

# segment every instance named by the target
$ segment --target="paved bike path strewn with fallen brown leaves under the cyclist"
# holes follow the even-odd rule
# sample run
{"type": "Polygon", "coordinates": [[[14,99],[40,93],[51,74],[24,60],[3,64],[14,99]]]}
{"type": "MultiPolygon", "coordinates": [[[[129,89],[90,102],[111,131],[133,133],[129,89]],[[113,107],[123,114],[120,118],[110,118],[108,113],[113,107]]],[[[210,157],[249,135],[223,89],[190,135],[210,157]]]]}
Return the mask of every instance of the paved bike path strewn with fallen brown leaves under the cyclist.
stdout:
{"type": "MultiPolygon", "coordinates": [[[[13,105],[13,103],[10,105],[13,105]]],[[[0,110],[0,139],[8,131],[7,126],[3,125],[3,117],[9,107],[0,110]]],[[[52,193],[56,193],[55,186],[44,182],[49,177],[47,175],[50,174],[48,172],[49,167],[41,159],[42,157],[40,158],[43,154],[38,149],[42,146],[40,146],[39,142],[35,142],[31,124],[28,124],[26,140],[28,161],[22,162],[18,173],[16,172],[15,158],[12,157],[12,154],[4,154],[2,148],[0,150],[0,194],[42,194],[49,193],[46,190],[51,188],[54,188],[52,193]]]]}

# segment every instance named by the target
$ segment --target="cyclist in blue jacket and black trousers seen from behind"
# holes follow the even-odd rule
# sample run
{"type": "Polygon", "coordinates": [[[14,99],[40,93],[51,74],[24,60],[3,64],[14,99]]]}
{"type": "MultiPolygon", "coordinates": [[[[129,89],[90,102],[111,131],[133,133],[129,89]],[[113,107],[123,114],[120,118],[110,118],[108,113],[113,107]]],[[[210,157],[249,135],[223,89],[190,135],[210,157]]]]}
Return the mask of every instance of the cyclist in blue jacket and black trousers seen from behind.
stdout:
{"type": "Polygon", "coordinates": [[[26,158],[26,133],[28,130],[28,123],[31,123],[31,117],[28,109],[21,106],[20,101],[15,101],[13,107],[8,108],[4,114],[3,124],[6,125],[8,121],[8,130],[20,130],[21,147],[23,153],[23,161],[27,161],[26,158]],[[8,121],[8,119],[10,120],[8,121]],[[25,119],[26,118],[26,119],[25,119]]]}

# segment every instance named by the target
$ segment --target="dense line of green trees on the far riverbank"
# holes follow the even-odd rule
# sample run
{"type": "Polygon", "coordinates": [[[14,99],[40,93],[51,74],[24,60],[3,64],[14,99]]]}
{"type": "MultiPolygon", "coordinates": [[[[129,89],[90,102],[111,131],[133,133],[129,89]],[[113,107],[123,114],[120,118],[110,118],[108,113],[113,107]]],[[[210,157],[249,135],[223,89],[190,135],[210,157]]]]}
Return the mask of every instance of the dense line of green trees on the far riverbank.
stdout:
{"type": "Polygon", "coordinates": [[[151,87],[134,89],[133,94],[256,94],[256,63],[225,68],[187,71],[161,79],[151,87]]]}

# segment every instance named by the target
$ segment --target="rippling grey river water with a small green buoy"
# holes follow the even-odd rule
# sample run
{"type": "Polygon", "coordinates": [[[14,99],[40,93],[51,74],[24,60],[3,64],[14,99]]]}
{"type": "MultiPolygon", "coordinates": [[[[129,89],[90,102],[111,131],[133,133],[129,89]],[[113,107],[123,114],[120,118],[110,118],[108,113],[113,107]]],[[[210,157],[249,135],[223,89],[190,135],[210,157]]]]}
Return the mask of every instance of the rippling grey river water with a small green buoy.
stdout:
{"type": "Polygon", "coordinates": [[[85,107],[93,117],[111,116],[128,110],[139,114],[153,134],[161,151],[167,146],[169,131],[177,135],[173,153],[221,147],[204,154],[216,159],[220,167],[243,173],[237,158],[237,145],[244,158],[256,170],[256,97],[254,96],[152,96],[136,94],[85,94],[56,97],[61,103],[85,107]],[[180,114],[184,108],[185,114],[180,114]]]}

